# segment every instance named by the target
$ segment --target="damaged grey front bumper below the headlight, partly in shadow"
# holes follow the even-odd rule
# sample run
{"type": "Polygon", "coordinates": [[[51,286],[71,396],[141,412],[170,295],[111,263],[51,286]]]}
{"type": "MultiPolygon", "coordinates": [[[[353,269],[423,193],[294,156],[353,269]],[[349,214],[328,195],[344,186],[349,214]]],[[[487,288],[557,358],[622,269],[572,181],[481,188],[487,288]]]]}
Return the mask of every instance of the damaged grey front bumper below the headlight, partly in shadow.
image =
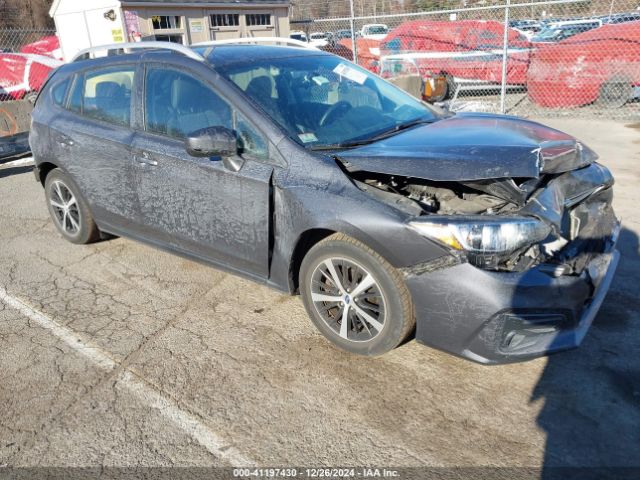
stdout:
{"type": "Polygon", "coordinates": [[[416,340],[485,363],[531,359],[577,347],[609,290],[618,265],[620,223],[579,275],[541,264],[496,272],[469,263],[411,269],[416,340]]]}

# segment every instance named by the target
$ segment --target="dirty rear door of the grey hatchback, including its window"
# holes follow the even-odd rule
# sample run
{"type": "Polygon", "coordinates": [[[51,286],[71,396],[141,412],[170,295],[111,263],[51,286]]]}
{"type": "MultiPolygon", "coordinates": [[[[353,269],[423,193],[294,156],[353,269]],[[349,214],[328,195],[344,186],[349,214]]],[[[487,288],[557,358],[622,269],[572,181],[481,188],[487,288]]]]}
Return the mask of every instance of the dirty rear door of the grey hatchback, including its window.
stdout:
{"type": "Polygon", "coordinates": [[[51,123],[56,156],[107,231],[129,230],[137,219],[130,127],[136,69],[126,64],[76,74],[66,111],[51,123]]]}

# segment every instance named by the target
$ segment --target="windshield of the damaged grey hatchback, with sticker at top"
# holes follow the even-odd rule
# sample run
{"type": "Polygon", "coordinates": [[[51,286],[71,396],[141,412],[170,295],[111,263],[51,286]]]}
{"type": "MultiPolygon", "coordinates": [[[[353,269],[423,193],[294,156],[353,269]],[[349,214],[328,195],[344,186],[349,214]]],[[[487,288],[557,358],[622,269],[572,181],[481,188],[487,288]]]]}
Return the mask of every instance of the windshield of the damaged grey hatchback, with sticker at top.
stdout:
{"type": "Polygon", "coordinates": [[[217,70],[307,147],[371,139],[439,118],[399,88],[333,55],[252,60],[217,70]]]}

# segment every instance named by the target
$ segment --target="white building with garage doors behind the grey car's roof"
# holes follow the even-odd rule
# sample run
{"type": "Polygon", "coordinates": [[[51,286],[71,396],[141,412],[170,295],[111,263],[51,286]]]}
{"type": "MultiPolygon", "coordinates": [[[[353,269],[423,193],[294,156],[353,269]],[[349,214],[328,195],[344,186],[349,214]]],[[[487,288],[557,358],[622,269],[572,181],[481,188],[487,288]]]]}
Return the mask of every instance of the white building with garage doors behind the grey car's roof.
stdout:
{"type": "Polygon", "coordinates": [[[289,0],[54,0],[49,14],[66,60],[108,43],[289,36],[289,0]]]}

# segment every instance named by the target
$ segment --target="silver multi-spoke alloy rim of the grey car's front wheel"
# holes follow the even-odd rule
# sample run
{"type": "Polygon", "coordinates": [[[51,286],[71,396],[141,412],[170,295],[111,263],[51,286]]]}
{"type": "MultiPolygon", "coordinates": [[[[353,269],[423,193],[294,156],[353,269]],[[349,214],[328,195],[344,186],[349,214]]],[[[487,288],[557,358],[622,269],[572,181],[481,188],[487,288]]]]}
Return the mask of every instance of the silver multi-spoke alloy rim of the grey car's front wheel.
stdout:
{"type": "Polygon", "coordinates": [[[345,340],[370,341],[384,328],[384,295],[375,278],[353,260],[327,258],[317,265],[311,300],[322,320],[345,340]]]}

